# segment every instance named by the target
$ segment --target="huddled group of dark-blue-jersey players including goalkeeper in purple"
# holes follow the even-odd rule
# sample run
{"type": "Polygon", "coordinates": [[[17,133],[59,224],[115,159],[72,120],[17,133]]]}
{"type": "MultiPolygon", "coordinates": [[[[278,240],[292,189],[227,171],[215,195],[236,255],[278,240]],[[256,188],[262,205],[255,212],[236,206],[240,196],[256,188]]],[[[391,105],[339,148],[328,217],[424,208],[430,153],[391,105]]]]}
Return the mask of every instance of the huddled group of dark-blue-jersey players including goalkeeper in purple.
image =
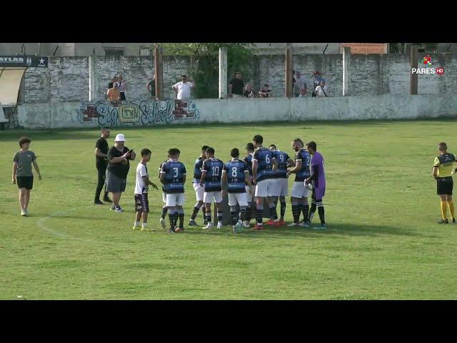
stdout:
{"type": "MultiPolygon", "coordinates": [[[[253,229],[263,229],[264,225],[281,227],[286,225],[286,197],[288,197],[288,177],[295,174],[291,190],[293,223],[288,227],[311,227],[313,216],[318,209],[321,225],[313,229],[326,229],[322,199],[325,195],[326,179],[323,156],[318,153],[316,142],[304,144],[299,138],[291,143],[295,159],[274,144],[263,146],[263,137],[256,135],[253,142],[246,145],[246,156],[240,158],[240,151],[231,149],[231,160],[224,163],[216,158],[214,148],[202,146],[201,154],[194,164],[193,186],[196,204],[189,227],[196,227],[196,217],[201,210],[204,229],[214,227],[211,204],[214,202],[217,228],[220,229],[223,215],[223,197],[229,199],[231,225],[233,232],[250,228],[252,219],[256,220],[253,229]],[[308,203],[309,192],[311,207],[308,203]],[[280,203],[280,216],[277,214],[280,203]],[[264,206],[266,208],[264,208],[264,206]],[[268,211],[266,216],[264,212],[268,211]],[[301,214],[303,219],[300,220],[301,214]],[[263,217],[269,220],[263,224],[263,217]]],[[[163,184],[162,214],[160,223],[166,229],[166,214],[169,216],[168,232],[184,231],[184,184],[186,167],[179,161],[179,149],[169,149],[168,159],[161,163],[160,181],[163,184]]],[[[141,205],[141,204],[139,204],[141,205]]],[[[141,207],[141,206],[140,206],[141,207]]]]}

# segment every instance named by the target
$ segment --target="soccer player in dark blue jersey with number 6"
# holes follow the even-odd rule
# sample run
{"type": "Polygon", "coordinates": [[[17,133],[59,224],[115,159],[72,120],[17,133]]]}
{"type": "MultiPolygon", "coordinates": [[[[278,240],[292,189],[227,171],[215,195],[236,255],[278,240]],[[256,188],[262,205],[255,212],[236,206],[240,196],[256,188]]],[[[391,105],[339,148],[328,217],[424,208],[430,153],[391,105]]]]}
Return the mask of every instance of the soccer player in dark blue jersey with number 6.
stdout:
{"type": "Polygon", "coordinates": [[[273,219],[274,225],[279,226],[278,214],[273,202],[268,199],[268,196],[273,195],[273,184],[271,183],[271,174],[276,172],[278,163],[271,154],[271,151],[262,146],[263,137],[256,134],[253,138],[253,144],[256,148],[252,158],[252,178],[256,184],[256,220],[257,224],[254,229],[260,230],[263,228],[263,202],[266,199],[268,204],[270,218],[273,219]]]}

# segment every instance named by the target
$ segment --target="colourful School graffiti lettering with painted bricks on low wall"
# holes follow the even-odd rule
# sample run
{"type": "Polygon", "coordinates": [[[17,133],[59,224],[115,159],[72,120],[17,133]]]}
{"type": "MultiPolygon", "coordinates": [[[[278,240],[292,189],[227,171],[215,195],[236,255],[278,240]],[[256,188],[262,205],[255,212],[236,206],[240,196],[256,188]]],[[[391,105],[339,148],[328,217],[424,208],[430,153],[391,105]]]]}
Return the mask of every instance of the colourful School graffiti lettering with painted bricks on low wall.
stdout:
{"type": "Polygon", "coordinates": [[[171,124],[174,121],[199,119],[200,111],[193,100],[153,100],[136,104],[124,101],[114,105],[108,101],[81,104],[78,121],[100,126],[143,126],[171,124]]]}

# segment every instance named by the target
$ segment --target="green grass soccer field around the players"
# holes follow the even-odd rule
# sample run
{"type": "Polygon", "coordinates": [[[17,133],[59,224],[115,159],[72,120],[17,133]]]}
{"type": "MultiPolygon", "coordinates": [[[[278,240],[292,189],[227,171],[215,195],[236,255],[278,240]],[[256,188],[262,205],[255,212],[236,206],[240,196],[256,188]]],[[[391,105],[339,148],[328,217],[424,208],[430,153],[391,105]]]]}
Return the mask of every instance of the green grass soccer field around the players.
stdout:
{"type": "MultiPolygon", "coordinates": [[[[436,144],[457,151],[455,131],[451,120],[112,129],[110,146],[123,132],[130,149],[153,151],[154,182],[174,146],[190,174],[204,144],[226,161],[254,134],[291,154],[295,137],[317,142],[326,162],[326,231],[186,227],[174,235],[159,226],[161,192],[154,190],[149,226],[156,232],[131,230],[138,158],[121,199],[126,212],[92,204],[98,130],[1,131],[0,298],[456,299],[457,227],[436,224],[431,177],[436,144]],[[19,215],[11,184],[23,134],[44,177],[35,179],[30,217],[19,215]]],[[[186,223],[194,203],[188,182],[186,223]]]]}

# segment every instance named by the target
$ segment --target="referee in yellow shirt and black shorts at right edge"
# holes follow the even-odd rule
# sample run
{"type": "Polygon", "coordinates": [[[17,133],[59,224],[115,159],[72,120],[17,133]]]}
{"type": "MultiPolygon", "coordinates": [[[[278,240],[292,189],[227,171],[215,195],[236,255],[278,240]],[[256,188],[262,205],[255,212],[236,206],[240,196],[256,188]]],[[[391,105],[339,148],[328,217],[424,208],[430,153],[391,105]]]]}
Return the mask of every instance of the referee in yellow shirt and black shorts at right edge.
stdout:
{"type": "Polygon", "coordinates": [[[440,154],[435,157],[433,164],[433,177],[436,179],[436,194],[441,198],[441,220],[438,224],[448,224],[446,212],[449,207],[451,212],[452,223],[456,224],[456,217],[454,216],[454,204],[452,202],[452,188],[453,188],[453,164],[456,162],[457,156],[447,152],[448,146],[443,141],[438,144],[440,154]]]}

